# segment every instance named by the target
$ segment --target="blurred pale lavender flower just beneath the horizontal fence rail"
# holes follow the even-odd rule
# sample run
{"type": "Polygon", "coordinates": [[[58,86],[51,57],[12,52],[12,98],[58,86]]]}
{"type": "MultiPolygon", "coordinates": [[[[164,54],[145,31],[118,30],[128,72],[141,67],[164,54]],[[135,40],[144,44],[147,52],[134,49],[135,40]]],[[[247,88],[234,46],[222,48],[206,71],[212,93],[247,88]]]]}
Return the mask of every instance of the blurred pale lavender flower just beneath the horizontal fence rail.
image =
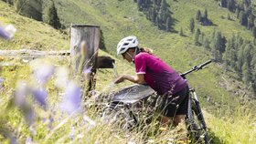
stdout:
{"type": "Polygon", "coordinates": [[[42,66],[35,70],[34,77],[38,80],[39,83],[45,84],[48,81],[48,78],[54,73],[53,66],[42,66]]]}

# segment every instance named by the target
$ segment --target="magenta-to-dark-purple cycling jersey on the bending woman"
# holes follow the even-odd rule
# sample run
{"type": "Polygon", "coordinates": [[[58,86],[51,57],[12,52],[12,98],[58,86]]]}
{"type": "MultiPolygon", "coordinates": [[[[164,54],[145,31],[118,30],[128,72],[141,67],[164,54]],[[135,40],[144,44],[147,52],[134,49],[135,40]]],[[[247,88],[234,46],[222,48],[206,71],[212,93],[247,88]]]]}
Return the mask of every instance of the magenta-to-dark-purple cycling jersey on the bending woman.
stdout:
{"type": "Polygon", "coordinates": [[[134,58],[137,74],[144,74],[144,80],[157,94],[176,94],[187,86],[187,80],[169,67],[160,58],[141,52],[134,58]]]}

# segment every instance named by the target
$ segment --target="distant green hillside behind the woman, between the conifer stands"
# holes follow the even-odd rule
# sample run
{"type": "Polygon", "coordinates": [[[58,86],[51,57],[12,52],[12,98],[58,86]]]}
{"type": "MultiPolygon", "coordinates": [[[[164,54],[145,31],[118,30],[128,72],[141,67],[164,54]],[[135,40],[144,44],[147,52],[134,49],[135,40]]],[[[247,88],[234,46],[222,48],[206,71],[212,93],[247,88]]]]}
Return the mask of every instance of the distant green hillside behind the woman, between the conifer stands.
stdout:
{"type": "MultiPolygon", "coordinates": [[[[59,17],[62,23],[69,25],[70,23],[86,23],[101,26],[105,38],[105,45],[110,54],[115,56],[115,46],[119,39],[123,36],[135,35],[139,37],[140,46],[151,47],[155,50],[155,54],[163,58],[170,66],[177,71],[183,72],[196,64],[202,63],[209,58],[210,53],[206,52],[202,46],[194,46],[194,36],[188,30],[189,20],[197,14],[197,10],[203,11],[208,8],[208,17],[215,26],[199,26],[206,36],[211,36],[214,29],[222,32],[224,36],[231,36],[239,33],[245,39],[251,39],[251,32],[240,26],[238,19],[234,14],[229,14],[234,20],[230,21],[226,18],[229,11],[219,7],[216,1],[191,1],[186,0],[168,1],[171,6],[174,19],[176,19],[175,30],[178,31],[183,27],[185,36],[178,36],[175,33],[167,33],[158,30],[151,22],[149,22],[142,12],[138,12],[136,3],[128,1],[58,1],[59,17]],[[69,5],[69,6],[66,6],[69,5]],[[125,6],[122,6],[125,5],[125,6]],[[79,11],[72,11],[80,9],[79,11]],[[78,14],[78,12],[80,12],[78,14]],[[76,15],[76,16],[72,16],[76,15]],[[103,16],[102,16],[103,15],[103,16]],[[190,66],[188,66],[188,64],[190,66]]],[[[230,74],[231,77],[237,77],[236,74],[230,74]]],[[[193,86],[197,87],[200,96],[204,98],[204,106],[212,109],[211,104],[218,105],[233,102],[233,93],[228,93],[227,89],[221,87],[226,83],[229,77],[225,74],[221,67],[211,66],[208,70],[195,74],[191,78],[193,86]],[[208,81],[205,81],[206,79],[208,81]],[[212,87],[216,87],[215,90],[212,87]],[[217,90],[218,89],[218,90],[217,90]],[[221,97],[220,97],[221,96],[221,97]],[[224,97],[225,99],[222,99],[224,97]],[[207,101],[206,99],[210,99],[207,101]],[[224,100],[224,101],[223,101],[224,100]]],[[[190,79],[189,79],[190,80],[190,79]]],[[[231,83],[231,82],[229,82],[231,83]]],[[[230,84],[231,85],[231,84],[230,84]]],[[[238,82],[236,85],[240,85],[238,82]]],[[[237,87],[227,87],[229,91],[236,92],[237,87]]]]}

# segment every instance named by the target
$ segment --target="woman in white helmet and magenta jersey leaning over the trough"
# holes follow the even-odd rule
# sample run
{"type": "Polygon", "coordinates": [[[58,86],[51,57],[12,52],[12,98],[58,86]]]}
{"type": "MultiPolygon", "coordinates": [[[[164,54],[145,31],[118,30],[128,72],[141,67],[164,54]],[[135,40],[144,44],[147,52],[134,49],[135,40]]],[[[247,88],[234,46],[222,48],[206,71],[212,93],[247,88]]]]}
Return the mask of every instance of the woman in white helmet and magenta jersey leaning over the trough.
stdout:
{"type": "Polygon", "coordinates": [[[127,79],[133,83],[149,85],[160,97],[164,97],[161,106],[161,123],[175,126],[184,123],[188,104],[187,81],[160,58],[155,57],[150,49],[139,48],[138,44],[135,36],[124,37],[118,43],[117,54],[135,64],[137,75],[120,76],[115,83],[127,79]]]}

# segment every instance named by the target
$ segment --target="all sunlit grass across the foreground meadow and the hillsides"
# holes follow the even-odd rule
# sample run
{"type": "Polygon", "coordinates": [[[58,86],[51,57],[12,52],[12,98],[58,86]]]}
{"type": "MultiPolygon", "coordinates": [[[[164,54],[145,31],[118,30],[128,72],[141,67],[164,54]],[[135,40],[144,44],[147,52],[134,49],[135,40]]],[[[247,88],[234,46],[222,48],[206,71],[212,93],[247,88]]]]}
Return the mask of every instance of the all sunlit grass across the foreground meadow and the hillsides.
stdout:
{"type": "MultiPolygon", "coordinates": [[[[57,6],[60,19],[67,26],[70,23],[86,23],[101,26],[108,52],[100,51],[99,55],[114,58],[119,75],[134,74],[133,65],[123,62],[115,54],[118,40],[128,35],[138,36],[140,46],[153,48],[155,55],[161,57],[178,72],[184,72],[190,69],[191,66],[208,60],[210,54],[203,47],[194,46],[193,36],[188,32],[188,22],[191,17],[195,17],[198,9],[203,12],[204,8],[208,7],[208,17],[217,25],[197,25],[207,36],[211,35],[214,28],[218,28],[225,36],[239,32],[245,38],[251,37],[250,32],[238,24],[238,20],[235,19],[233,14],[230,14],[230,16],[233,17],[234,21],[221,18],[228,15],[228,11],[220,8],[215,1],[193,0],[188,2],[186,0],[179,0],[178,2],[168,2],[171,4],[173,16],[177,20],[174,28],[179,30],[180,27],[183,27],[186,36],[178,36],[178,34],[158,30],[146,20],[142,12],[137,11],[136,5],[132,1],[88,0],[84,2],[81,0],[59,0],[57,1],[57,6]],[[74,9],[77,11],[74,11],[74,9]]],[[[0,9],[2,25],[13,24],[18,30],[14,40],[10,42],[0,41],[1,49],[69,49],[69,36],[61,34],[48,25],[17,15],[12,8],[6,6],[2,1],[0,2],[0,9]]],[[[61,58],[50,59],[50,61],[54,62],[56,67],[69,63],[69,59],[61,58]]],[[[1,64],[5,63],[13,63],[15,65],[1,68],[1,77],[5,78],[1,90],[1,108],[6,108],[8,100],[13,98],[16,82],[20,79],[30,82],[32,74],[28,64],[24,63],[20,58],[5,57],[1,64]]],[[[69,67],[69,65],[66,67],[69,67]]],[[[229,75],[235,74],[231,73],[229,75]]],[[[210,137],[213,138],[213,143],[251,143],[256,138],[256,119],[251,111],[255,106],[247,103],[244,106],[239,104],[242,99],[234,97],[232,92],[237,90],[236,85],[230,83],[230,87],[233,87],[230,90],[231,92],[220,86],[220,84],[226,83],[224,79],[229,80],[227,77],[229,76],[221,67],[210,64],[207,69],[191,74],[187,78],[191,86],[196,87],[202,108],[206,110],[204,115],[210,129],[210,137]]],[[[125,82],[112,87],[111,83],[112,79],[114,79],[112,69],[99,69],[96,78],[97,92],[117,90],[120,87],[132,84],[125,82]]],[[[58,104],[62,98],[61,93],[63,93],[63,89],[61,91],[61,89],[58,90],[58,88],[54,87],[53,81],[53,79],[50,79],[47,85],[48,104],[53,111],[56,111],[53,116],[55,122],[52,124],[52,129],[48,128],[49,118],[53,115],[52,109],[44,111],[33,104],[38,114],[35,127],[33,127],[37,131],[36,135],[33,134],[33,129],[29,130],[27,128],[23,114],[17,108],[10,108],[5,114],[5,110],[3,110],[1,113],[1,119],[6,119],[7,126],[15,129],[14,133],[17,134],[18,139],[22,143],[29,137],[33,139],[33,142],[37,143],[68,143],[70,141],[74,143],[95,143],[95,141],[99,143],[143,143],[144,133],[134,131],[126,133],[123,132],[123,129],[116,129],[115,127],[105,125],[101,123],[93,108],[84,109],[83,115],[95,121],[96,126],[91,125],[88,119],[84,120],[81,115],[70,118],[68,115],[61,115],[58,104]],[[43,118],[47,118],[47,121],[42,122],[43,118]],[[85,123],[83,123],[84,121],[85,123]],[[73,133],[73,127],[75,128],[75,139],[70,139],[69,136],[73,133]],[[53,129],[55,131],[51,133],[53,129]]],[[[252,100],[251,103],[253,104],[255,101],[252,100]]],[[[0,122],[2,121],[0,120],[0,122]]],[[[149,131],[144,132],[150,133],[153,129],[159,128],[152,126],[149,131]]],[[[173,139],[171,137],[173,135],[174,133],[170,131],[155,136],[151,135],[148,138],[155,141],[155,143],[165,143],[171,142],[168,140],[173,139]]],[[[7,143],[6,139],[0,137],[0,140],[5,140],[7,143]]]]}

